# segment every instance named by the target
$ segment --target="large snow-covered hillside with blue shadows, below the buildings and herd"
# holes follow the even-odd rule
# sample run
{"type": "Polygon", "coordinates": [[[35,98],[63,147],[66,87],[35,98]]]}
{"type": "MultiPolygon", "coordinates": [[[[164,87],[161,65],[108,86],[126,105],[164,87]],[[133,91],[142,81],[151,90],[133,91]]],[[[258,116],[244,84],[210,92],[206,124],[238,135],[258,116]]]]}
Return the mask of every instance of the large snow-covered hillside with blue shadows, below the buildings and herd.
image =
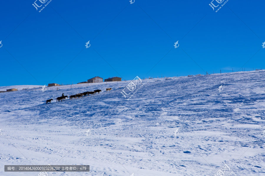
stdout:
{"type": "Polygon", "coordinates": [[[90,165],[54,176],[213,176],[226,164],[225,176],[264,176],[264,77],[261,70],[145,79],[129,100],[120,92],[130,81],[0,93],[0,175],[38,174],[4,165],[51,164],[90,165]],[[95,89],[102,92],[55,100],[95,89]]]}

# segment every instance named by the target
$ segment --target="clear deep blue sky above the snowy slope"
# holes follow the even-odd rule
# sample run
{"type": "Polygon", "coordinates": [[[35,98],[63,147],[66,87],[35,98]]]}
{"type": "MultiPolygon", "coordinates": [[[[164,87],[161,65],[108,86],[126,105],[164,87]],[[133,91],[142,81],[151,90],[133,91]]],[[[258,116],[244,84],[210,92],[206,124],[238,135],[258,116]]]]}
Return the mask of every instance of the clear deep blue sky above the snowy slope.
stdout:
{"type": "Polygon", "coordinates": [[[0,86],[265,69],[264,1],[33,3],[1,1],[0,86]]]}

